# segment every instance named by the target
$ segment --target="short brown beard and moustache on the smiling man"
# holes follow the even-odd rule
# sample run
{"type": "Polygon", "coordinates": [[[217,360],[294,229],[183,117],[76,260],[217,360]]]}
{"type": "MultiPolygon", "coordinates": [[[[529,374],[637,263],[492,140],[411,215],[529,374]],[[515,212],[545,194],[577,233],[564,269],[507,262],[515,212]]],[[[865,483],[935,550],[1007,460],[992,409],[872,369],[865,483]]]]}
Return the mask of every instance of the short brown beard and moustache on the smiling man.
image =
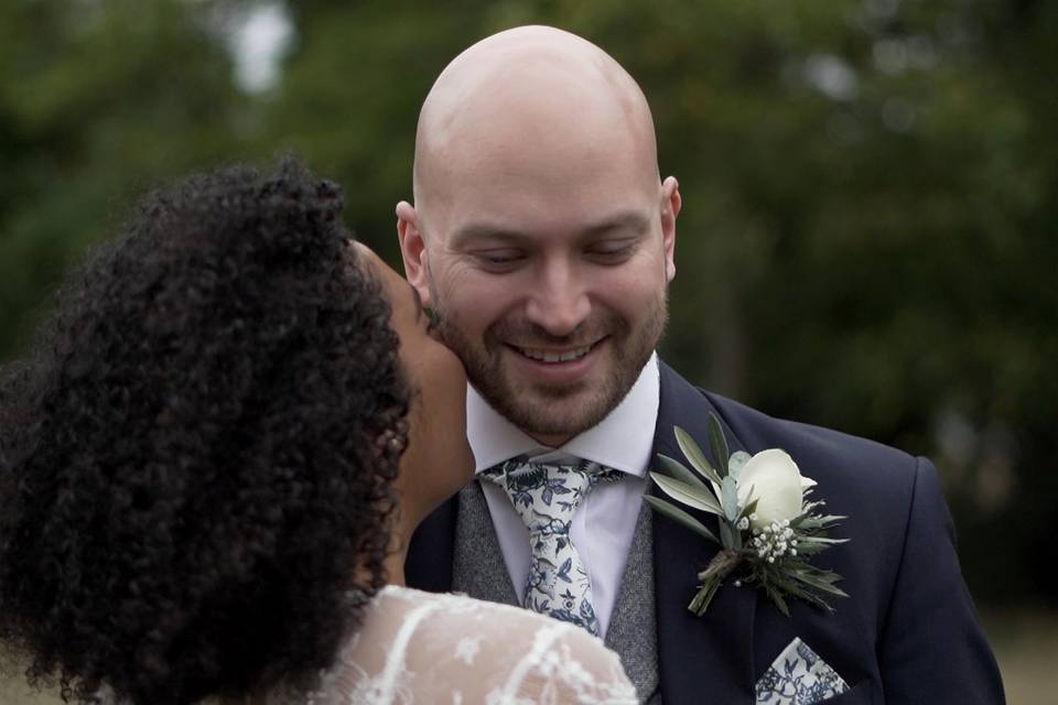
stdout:
{"type": "MultiPolygon", "coordinates": [[[[434,304],[439,303],[432,296],[434,304]]],[[[668,301],[661,293],[633,329],[628,321],[606,313],[583,323],[569,336],[555,337],[528,322],[500,319],[489,326],[482,339],[472,340],[451,323],[443,307],[438,306],[436,332],[463,361],[467,379],[481,395],[512,424],[527,434],[572,437],[597,425],[622,402],[650,359],[668,319],[668,301]],[[505,340],[525,347],[580,347],[603,335],[612,365],[594,390],[589,382],[573,384],[536,383],[518,389],[504,373],[505,340]]],[[[508,355],[510,351],[508,350],[508,355]]],[[[517,355],[517,352],[515,352],[517,355]]]]}

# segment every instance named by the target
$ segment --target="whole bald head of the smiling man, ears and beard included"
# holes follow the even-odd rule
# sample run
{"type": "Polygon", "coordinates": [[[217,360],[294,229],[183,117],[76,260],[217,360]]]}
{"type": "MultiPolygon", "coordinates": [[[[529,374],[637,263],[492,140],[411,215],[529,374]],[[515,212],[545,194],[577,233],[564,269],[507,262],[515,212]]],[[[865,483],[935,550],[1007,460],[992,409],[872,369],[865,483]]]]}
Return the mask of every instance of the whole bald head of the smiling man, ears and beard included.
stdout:
{"type": "Polygon", "coordinates": [[[665,327],[680,195],[635,80],[527,26],[457,56],[422,108],[404,268],[471,382],[560,445],[602,421],[665,327]]]}

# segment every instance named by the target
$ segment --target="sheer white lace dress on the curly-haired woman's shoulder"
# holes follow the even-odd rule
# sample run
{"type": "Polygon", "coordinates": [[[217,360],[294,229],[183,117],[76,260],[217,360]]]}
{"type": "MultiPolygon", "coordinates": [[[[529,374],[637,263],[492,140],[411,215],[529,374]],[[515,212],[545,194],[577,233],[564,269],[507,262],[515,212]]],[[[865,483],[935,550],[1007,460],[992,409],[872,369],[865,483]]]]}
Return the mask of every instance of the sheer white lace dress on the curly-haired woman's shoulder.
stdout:
{"type": "MultiPolygon", "coordinates": [[[[517,607],[384,588],[311,694],[312,705],[635,705],[617,654],[517,607]]],[[[289,702],[283,698],[283,702],[289,702]]]]}

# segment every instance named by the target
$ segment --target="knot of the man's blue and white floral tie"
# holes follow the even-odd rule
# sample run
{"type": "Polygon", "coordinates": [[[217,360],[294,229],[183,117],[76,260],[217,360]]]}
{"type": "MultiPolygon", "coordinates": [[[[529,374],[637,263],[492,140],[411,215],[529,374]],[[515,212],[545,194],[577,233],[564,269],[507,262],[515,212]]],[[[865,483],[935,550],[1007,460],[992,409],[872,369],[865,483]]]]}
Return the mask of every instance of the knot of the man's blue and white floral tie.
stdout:
{"type": "Polygon", "coordinates": [[[499,485],[530,531],[569,531],[573,512],[587,491],[617,479],[616,470],[591,460],[530,463],[514,458],[485,470],[484,479],[499,485]]]}

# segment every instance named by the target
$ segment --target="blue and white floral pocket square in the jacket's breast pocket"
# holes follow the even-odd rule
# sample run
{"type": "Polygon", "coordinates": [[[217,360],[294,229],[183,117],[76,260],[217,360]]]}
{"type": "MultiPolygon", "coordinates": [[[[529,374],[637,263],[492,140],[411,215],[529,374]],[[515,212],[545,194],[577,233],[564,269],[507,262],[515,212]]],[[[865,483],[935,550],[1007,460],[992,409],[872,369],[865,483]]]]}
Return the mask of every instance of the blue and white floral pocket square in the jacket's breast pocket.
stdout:
{"type": "Polygon", "coordinates": [[[816,705],[848,690],[836,671],[795,638],[757,681],[757,703],[816,705]]]}

